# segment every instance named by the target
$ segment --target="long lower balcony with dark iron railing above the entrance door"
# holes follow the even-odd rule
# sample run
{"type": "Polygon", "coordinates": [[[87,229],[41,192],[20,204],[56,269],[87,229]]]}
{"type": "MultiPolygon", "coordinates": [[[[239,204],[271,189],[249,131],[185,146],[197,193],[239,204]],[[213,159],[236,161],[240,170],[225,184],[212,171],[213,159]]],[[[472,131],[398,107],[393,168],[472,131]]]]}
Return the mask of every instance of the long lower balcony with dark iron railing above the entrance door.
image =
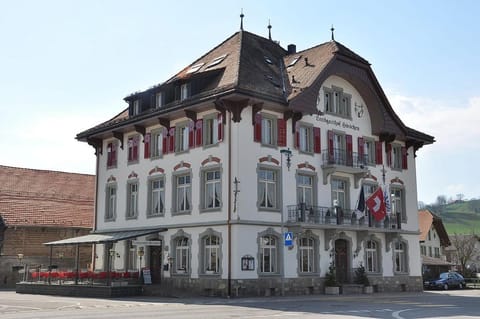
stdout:
{"type": "Polygon", "coordinates": [[[309,206],[305,203],[297,205],[287,205],[288,217],[287,223],[294,226],[300,225],[308,227],[309,225],[339,226],[340,228],[352,229],[401,229],[400,215],[391,215],[383,221],[377,222],[372,217],[365,216],[357,219],[355,211],[352,209],[342,209],[340,207],[322,207],[309,206]],[[369,220],[370,219],[370,220],[369,220]]]}

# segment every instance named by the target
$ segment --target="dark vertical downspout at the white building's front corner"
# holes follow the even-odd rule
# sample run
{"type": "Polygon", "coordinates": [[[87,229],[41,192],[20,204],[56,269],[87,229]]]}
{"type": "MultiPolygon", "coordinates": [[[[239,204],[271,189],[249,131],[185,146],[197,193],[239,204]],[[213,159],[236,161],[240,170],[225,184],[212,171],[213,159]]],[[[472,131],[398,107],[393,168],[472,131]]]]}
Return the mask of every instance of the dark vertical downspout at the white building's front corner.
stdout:
{"type": "Polygon", "coordinates": [[[227,217],[227,240],[228,240],[228,282],[227,297],[232,294],[232,113],[228,112],[228,217],[227,217]]]}

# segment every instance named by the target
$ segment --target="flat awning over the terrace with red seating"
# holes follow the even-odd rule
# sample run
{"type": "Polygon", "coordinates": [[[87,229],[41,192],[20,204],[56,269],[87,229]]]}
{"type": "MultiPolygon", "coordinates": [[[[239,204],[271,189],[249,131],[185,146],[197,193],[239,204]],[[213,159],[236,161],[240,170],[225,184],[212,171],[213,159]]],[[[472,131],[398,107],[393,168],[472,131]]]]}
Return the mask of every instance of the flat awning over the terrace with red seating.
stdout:
{"type": "Polygon", "coordinates": [[[78,244],[103,244],[110,242],[117,242],[120,240],[126,240],[148,234],[158,233],[166,231],[166,228],[155,229],[142,229],[142,230],[129,230],[129,231],[116,231],[116,232],[104,232],[104,233],[92,233],[79,237],[72,237],[57,241],[51,241],[44,243],[47,246],[61,246],[61,245],[78,245],[78,244]]]}

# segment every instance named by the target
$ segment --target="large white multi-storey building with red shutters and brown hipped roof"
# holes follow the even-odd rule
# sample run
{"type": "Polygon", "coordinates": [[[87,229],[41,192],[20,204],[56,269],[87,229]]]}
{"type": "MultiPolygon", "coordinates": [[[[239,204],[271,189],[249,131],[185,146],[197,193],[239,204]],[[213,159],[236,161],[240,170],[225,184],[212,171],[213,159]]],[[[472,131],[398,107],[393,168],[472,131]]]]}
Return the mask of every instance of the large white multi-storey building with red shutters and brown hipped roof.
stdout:
{"type": "Polygon", "coordinates": [[[331,263],[344,284],[363,264],[378,291],[422,289],[415,152],[434,138],[342,44],[296,52],[241,30],[125,101],[77,136],[96,148],[109,238],[96,269],[235,296],[322,292],[331,263]],[[391,214],[357,220],[361,188],[384,184],[391,214]]]}

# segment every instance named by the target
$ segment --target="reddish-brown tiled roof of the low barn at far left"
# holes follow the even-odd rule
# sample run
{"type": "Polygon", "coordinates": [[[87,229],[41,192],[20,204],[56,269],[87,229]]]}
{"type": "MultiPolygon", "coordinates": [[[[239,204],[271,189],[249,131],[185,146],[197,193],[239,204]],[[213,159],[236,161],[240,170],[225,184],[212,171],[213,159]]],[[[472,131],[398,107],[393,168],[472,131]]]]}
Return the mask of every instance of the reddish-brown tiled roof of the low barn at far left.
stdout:
{"type": "Polygon", "coordinates": [[[95,176],[0,165],[0,216],[7,226],[91,228],[95,176]]]}

